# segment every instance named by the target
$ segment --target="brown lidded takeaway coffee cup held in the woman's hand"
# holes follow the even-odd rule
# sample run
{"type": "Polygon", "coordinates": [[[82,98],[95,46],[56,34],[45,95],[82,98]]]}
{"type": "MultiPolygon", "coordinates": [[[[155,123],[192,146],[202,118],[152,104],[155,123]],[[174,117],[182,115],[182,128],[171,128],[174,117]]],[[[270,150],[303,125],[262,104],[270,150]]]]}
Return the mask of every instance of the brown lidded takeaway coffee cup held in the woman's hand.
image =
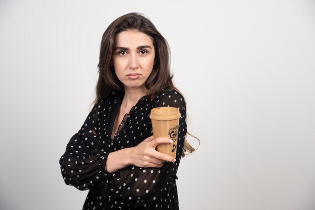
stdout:
{"type": "Polygon", "coordinates": [[[179,118],[181,113],[174,107],[158,107],[151,110],[150,119],[154,138],[168,137],[172,144],[159,144],[156,150],[176,157],[179,118]]]}

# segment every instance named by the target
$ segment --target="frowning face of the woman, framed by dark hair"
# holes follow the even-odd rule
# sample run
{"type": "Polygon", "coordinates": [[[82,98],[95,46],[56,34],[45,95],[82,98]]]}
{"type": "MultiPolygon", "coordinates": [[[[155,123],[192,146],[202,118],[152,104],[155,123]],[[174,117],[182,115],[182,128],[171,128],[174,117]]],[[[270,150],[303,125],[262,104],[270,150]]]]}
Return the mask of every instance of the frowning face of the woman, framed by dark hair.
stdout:
{"type": "Polygon", "coordinates": [[[145,90],[144,82],[154,64],[154,46],[146,34],[132,30],[116,36],[112,64],[118,79],[126,88],[145,90]]]}

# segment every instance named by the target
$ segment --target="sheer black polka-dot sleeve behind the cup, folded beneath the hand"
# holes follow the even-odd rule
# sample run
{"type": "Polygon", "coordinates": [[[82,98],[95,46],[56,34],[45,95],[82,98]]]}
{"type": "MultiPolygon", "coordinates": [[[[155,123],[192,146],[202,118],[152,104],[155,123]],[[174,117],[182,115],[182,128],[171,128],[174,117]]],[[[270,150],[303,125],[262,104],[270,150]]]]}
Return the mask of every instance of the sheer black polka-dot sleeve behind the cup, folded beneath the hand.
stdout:
{"type": "Polygon", "coordinates": [[[177,179],[176,172],[183,151],[186,128],[186,103],[184,97],[175,90],[167,90],[157,97],[153,108],[176,107],[180,110],[178,149],[176,162],[164,162],[161,168],[139,168],[129,166],[112,173],[100,184],[103,194],[120,208],[145,207],[150,205],[156,197],[166,189],[172,179],[177,179]]]}

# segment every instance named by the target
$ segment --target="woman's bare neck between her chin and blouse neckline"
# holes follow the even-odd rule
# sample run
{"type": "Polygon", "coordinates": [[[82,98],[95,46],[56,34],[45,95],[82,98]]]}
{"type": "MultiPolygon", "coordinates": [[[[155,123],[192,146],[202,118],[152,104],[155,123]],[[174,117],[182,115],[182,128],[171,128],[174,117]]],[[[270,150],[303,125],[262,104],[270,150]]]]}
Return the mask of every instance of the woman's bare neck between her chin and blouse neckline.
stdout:
{"type": "Polygon", "coordinates": [[[124,99],[122,100],[121,106],[124,108],[131,108],[133,107],[137,101],[144,95],[146,95],[145,88],[126,88],[125,87],[125,95],[124,99]]]}

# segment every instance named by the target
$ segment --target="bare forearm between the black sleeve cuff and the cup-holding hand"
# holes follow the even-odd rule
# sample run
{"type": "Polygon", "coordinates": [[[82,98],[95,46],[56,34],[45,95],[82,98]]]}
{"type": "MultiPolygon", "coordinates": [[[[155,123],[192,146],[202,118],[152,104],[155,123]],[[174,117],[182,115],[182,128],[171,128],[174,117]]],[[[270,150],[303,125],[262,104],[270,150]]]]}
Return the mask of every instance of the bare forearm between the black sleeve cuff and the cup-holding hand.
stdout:
{"type": "Polygon", "coordinates": [[[131,148],[125,148],[111,152],[107,157],[105,170],[112,173],[131,165],[130,150],[131,148]]]}

